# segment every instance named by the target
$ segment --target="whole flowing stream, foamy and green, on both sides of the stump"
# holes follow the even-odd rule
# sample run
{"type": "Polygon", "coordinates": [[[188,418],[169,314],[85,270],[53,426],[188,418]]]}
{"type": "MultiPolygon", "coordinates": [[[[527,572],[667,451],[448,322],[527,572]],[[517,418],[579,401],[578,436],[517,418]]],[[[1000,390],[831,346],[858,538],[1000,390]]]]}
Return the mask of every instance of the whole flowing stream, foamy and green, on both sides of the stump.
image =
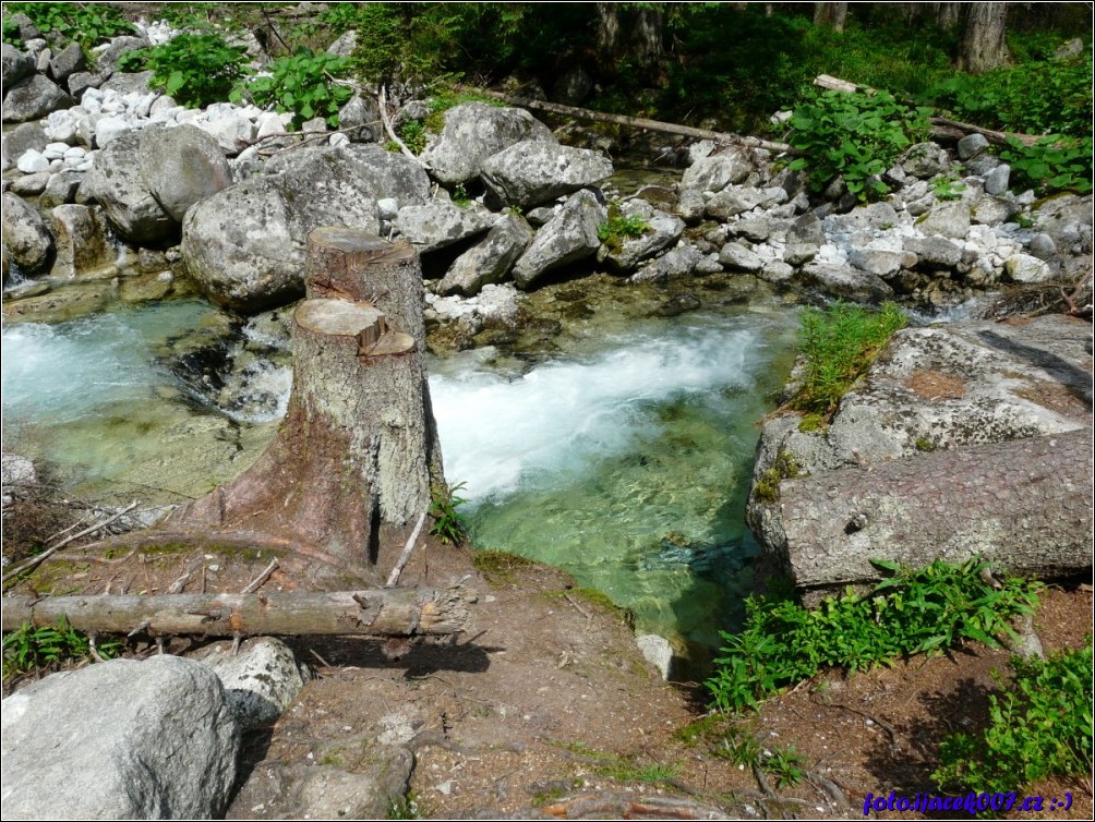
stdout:
{"type": "MultiPolygon", "coordinates": [[[[280,402],[265,410],[210,407],[165,363],[172,340],[215,317],[180,301],[7,327],[5,450],[48,458],[89,494],[178,491],[177,464],[192,482],[178,496],[196,496],[242,471],[289,373],[266,369],[280,402]]],[[[590,328],[531,367],[482,351],[430,360],[472,541],[566,569],[631,609],[638,633],[716,647],[751,586],[756,424],[789,369],[794,312],[735,304],[590,328]]]]}

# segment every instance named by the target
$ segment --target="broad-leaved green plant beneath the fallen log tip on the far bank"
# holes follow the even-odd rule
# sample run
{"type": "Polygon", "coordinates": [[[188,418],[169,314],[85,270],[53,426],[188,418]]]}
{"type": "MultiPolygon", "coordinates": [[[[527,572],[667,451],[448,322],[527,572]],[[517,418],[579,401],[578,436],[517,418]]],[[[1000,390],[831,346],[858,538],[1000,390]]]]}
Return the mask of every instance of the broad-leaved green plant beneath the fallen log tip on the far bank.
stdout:
{"type": "Polygon", "coordinates": [[[926,108],[898,103],[888,92],[825,92],[795,109],[788,141],[804,157],[791,167],[805,170],[815,192],[842,176],[861,201],[879,197],[889,188],[878,175],[904,149],[927,137],[927,114],[926,108]]]}

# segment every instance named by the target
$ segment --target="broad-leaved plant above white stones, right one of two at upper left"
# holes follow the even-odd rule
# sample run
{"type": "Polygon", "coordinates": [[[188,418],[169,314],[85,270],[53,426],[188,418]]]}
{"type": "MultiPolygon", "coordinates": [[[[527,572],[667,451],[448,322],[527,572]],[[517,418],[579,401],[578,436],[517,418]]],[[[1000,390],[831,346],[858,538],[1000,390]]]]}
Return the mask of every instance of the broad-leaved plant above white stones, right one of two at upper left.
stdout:
{"type": "Polygon", "coordinates": [[[239,103],[246,93],[258,106],[292,112],[292,129],[313,117],[323,117],[328,126],[337,128],[338,109],[354,96],[354,91],[332,80],[345,73],[348,65],[345,57],[302,50],[272,62],[268,76],[237,86],[231,99],[239,103]]]}

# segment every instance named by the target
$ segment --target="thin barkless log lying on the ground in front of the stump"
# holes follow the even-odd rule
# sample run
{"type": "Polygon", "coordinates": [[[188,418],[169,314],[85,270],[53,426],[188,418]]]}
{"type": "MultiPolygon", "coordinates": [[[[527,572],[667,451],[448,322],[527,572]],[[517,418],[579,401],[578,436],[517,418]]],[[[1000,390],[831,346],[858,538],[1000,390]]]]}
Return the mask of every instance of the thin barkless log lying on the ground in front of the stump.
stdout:
{"type": "Polygon", "coordinates": [[[384,588],[311,593],[9,597],[3,629],[67,621],[85,634],[415,636],[457,634],[468,620],[459,589],[384,588]]]}

